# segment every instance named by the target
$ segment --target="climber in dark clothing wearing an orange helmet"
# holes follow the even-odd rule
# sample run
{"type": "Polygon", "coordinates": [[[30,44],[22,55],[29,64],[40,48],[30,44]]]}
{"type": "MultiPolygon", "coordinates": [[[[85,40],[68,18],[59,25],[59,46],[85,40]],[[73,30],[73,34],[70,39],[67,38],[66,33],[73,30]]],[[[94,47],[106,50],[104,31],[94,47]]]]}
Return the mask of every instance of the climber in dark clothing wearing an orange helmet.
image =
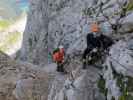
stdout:
{"type": "Polygon", "coordinates": [[[96,25],[92,25],[92,33],[88,33],[86,36],[87,48],[84,50],[83,59],[83,69],[86,69],[86,64],[93,64],[100,57],[101,50],[107,50],[113,44],[113,40],[103,35],[99,32],[99,28],[96,25]]]}

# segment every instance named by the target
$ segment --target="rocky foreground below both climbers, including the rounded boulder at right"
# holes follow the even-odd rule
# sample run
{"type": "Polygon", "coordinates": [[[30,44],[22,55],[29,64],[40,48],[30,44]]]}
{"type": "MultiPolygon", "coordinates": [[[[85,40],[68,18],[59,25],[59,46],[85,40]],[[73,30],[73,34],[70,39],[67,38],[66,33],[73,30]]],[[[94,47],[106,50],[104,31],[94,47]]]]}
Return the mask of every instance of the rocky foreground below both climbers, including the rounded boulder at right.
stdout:
{"type": "Polygon", "coordinates": [[[107,91],[100,93],[97,84],[102,71],[94,66],[82,70],[73,61],[68,65],[70,73],[64,75],[56,73],[55,64],[40,68],[0,53],[0,100],[132,100],[132,39],[113,45],[105,65],[101,85],[107,91]]]}

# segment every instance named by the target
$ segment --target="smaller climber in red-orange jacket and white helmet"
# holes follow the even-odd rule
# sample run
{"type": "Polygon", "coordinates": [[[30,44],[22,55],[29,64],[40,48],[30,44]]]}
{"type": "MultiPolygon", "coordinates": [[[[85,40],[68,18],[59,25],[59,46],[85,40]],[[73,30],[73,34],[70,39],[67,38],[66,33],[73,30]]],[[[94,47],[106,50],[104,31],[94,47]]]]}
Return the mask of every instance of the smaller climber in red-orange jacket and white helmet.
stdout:
{"type": "Polygon", "coordinates": [[[59,46],[53,51],[53,60],[57,63],[57,71],[64,72],[64,48],[63,46],[59,46]]]}

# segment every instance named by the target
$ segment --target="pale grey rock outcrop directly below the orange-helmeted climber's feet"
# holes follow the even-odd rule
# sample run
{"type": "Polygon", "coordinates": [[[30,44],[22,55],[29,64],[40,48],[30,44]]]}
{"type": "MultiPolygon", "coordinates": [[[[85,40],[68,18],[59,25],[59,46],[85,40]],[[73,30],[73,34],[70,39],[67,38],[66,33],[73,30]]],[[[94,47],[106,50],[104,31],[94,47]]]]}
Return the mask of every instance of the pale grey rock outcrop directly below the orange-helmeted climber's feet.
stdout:
{"type": "Polygon", "coordinates": [[[105,100],[97,87],[100,71],[93,66],[82,70],[80,64],[71,64],[75,70],[55,77],[48,100],[105,100]]]}

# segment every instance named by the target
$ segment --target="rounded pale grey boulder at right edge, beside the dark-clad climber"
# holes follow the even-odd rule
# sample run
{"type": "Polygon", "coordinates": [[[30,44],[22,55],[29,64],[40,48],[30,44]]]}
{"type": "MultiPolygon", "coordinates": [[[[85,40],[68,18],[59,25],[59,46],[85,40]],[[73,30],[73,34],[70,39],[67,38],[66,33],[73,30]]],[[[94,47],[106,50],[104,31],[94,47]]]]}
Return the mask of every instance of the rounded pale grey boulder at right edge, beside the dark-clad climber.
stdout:
{"type": "Polygon", "coordinates": [[[115,44],[110,51],[110,61],[114,69],[127,76],[133,76],[132,65],[133,65],[133,40],[119,41],[115,44]],[[115,67],[117,66],[117,67],[115,67]]]}

